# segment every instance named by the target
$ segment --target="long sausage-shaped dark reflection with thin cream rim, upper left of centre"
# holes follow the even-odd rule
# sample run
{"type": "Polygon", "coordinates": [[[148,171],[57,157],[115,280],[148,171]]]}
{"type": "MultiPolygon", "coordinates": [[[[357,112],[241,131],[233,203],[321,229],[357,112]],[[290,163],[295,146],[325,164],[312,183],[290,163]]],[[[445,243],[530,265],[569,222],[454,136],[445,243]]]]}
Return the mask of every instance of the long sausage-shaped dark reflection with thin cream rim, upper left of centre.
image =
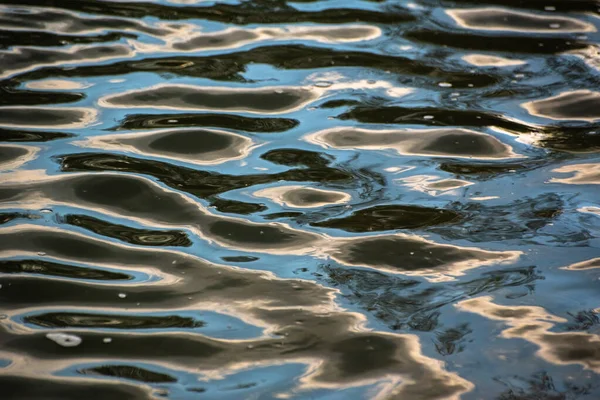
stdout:
{"type": "Polygon", "coordinates": [[[162,85],[103,98],[108,107],[166,108],[179,110],[226,110],[252,113],[281,113],[308,104],[316,94],[302,88],[273,87],[235,89],[162,85]]]}

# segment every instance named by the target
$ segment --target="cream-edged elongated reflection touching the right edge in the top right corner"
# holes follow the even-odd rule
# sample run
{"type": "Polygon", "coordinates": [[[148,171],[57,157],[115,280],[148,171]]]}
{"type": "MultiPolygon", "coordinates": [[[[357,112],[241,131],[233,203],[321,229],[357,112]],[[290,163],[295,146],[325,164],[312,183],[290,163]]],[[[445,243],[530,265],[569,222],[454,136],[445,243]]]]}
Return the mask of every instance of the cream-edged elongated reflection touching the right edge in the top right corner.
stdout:
{"type": "Polygon", "coordinates": [[[460,27],[484,31],[572,33],[595,32],[594,25],[576,18],[541,15],[506,8],[486,7],[447,10],[460,27]]]}

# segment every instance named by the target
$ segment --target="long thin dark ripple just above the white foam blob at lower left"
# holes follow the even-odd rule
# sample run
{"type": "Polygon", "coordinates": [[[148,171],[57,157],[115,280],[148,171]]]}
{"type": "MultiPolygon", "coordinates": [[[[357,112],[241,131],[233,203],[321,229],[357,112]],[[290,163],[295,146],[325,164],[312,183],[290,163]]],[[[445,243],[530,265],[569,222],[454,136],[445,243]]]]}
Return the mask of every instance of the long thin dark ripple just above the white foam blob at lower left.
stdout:
{"type": "Polygon", "coordinates": [[[119,315],[58,312],[30,315],[23,318],[27,324],[42,328],[101,328],[101,329],[194,329],[206,325],[204,321],[178,315],[119,315]]]}

